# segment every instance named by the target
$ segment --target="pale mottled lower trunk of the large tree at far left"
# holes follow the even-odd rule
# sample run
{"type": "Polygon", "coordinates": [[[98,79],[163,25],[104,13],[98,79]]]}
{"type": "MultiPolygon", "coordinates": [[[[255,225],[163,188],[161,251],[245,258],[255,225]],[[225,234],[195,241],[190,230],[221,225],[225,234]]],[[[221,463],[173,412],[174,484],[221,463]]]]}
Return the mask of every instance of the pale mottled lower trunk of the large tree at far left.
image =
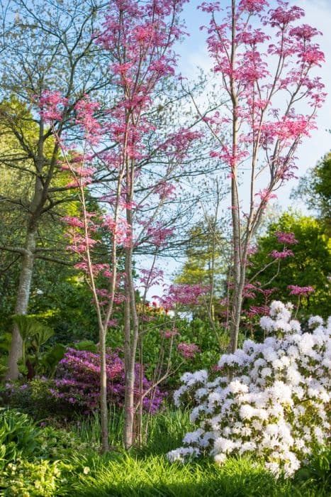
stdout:
{"type": "MultiPolygon", "coordinates": [[[[30,286],[33,275],[34,251],[36,231],[28,231],[26,236],[26,251],[22,256],[20,280],[15,306],[15,314],[26,314],[30,296],[30,286]]],[[[22,357],[22,339],[17,324],[14,324],[11,337],[11,349],[9,351],[7,378],[16,380],[18,378],[17,362],[22,357]]]]}

